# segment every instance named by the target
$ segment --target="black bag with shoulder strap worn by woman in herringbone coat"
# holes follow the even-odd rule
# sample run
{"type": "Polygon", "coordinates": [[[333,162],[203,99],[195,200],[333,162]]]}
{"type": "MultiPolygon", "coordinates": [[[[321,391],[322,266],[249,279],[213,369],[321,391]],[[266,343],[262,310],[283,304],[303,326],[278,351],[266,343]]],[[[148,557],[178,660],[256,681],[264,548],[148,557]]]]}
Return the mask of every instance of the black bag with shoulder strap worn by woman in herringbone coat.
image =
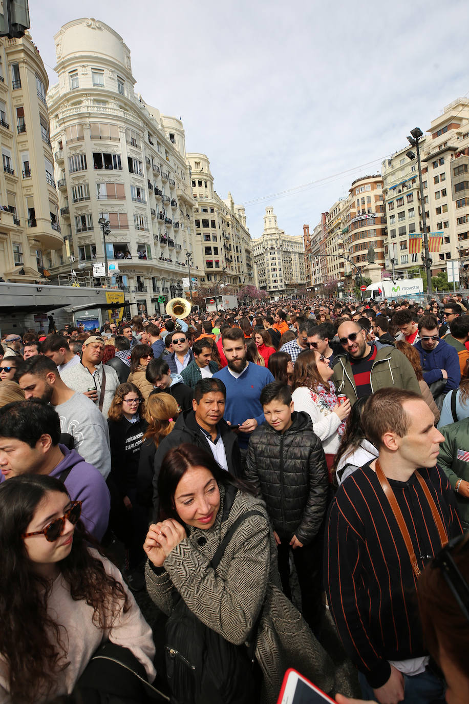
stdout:
{"type": "MultiPolygon", "coordinates": [[[[226,533],[210,567],[216,570],[226,545],[246,517],[238,518],[226,533]]],[[[259,623],[259,619],[257,620],[259,623]]],[[[257,668],[253,629],[250,648],[235,646],[207,627],[179,598],[166,624],[166,669],[174,704],[252,704],[256,701],[257,668]]]]}

